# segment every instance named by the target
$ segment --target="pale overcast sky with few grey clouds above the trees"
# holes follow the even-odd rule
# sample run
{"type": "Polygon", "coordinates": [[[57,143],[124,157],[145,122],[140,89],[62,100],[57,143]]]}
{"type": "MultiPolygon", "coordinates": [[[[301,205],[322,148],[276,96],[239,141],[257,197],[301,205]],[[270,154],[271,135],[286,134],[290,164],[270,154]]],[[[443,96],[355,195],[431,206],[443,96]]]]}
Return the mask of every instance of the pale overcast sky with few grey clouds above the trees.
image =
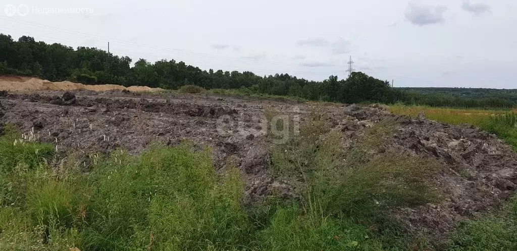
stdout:
{"type": "Polygon", "coordinates": [[[133,62],[288,73],[354,69],[398,87],[517,88],[514,0],[2,0],[0,33],[133,62]]]}

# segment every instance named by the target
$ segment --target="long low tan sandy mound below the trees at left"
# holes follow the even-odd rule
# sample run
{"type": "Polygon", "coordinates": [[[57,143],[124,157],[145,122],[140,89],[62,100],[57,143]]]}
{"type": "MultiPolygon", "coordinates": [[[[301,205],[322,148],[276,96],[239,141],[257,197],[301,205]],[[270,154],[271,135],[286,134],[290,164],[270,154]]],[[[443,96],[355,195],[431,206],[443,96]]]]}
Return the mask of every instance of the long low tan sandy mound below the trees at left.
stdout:
{"type": "Polygon", "coordinates": [[[147,86],[131,86],[124,87],[121,85],[84,85],[81,83],[73,83],[70,81],[50,82],[48,80],[40,80],[35,78],[18,77],[18,76],[0,76],[0,90],[6,91],[36,91],[36,90],[129,90],[132,92],[161,92],[162,88],[150,88],[147,86]]]}

